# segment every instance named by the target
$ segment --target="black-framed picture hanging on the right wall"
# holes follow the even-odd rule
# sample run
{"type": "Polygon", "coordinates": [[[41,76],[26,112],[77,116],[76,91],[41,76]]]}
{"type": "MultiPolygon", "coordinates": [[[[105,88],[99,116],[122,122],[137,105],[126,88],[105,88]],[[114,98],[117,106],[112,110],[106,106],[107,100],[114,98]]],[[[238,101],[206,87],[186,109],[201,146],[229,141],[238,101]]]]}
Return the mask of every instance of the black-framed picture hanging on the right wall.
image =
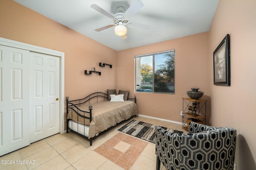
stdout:
{"type": "Polygon", "coordinates": [[[230,35],[213,52],[214,85],[230,86],[230,35]]]}

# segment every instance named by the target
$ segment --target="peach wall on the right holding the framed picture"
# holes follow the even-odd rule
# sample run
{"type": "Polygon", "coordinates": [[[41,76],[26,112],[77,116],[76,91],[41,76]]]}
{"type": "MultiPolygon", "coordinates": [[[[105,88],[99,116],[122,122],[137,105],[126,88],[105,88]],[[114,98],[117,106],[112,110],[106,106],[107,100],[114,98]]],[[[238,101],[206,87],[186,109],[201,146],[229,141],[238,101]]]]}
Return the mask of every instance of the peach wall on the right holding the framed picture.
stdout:
{"type": "Polygon", "coordinates": [[[256,169],[255,7],[255,0],[220,0],[209,31],[212,125],[237,129],[238,170],[256,169]],[[228,33],[231,86],[214,86],[212,53],[228,33]]]}

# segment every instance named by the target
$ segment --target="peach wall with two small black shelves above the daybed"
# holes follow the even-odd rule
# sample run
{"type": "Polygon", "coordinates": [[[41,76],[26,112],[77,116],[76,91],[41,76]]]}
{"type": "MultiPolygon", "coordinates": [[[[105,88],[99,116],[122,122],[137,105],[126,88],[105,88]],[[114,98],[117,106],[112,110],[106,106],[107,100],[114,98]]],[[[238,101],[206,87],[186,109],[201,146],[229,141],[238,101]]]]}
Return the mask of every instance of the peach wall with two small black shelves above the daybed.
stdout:
{"type": "Polygon", "coordinates": [[[65,53],[65,96],[77,99],[116,88],[116,51],[12,0],[0,3],[0,37],[65,53]],[[99,67],[100,62],[113,68],[99,67]],[[102,75],[84,75],[93,67],[102,75]]]}

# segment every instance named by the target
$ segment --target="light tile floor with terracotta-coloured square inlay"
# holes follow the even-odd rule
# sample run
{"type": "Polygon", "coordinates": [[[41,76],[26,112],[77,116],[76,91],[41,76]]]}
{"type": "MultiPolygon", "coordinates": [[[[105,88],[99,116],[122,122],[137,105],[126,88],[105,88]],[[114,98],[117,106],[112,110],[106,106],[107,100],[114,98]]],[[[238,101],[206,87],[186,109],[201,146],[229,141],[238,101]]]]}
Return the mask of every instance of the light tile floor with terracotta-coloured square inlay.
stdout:
{"type": "MultiPolygon", "coordinates": [[[[183,131],[182,125],[137,116],[132,119],[183,131]]],[[[155,144],[118,131],[129,119],[92,141],[76,133],[56,134],[0,157],[6,170],[155,170],[155,144]],[[30,164],[16,164],[27,160],[30,164]],[[31,162],[29,162],[31,160],[31,162]],[[33,162],[34,161],[34,162],[33,162]],[[34,163],[34,164],[33,164],[34,163]]],[[[162,167],[160,170],[165,170],[162,167]]]]}

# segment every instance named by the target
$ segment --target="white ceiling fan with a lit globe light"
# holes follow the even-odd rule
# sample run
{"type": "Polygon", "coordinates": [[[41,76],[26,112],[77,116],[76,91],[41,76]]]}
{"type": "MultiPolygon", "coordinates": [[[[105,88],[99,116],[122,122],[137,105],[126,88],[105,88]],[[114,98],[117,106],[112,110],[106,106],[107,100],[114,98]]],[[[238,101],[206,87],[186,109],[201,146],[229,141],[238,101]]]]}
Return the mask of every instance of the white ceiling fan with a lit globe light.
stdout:
{"type": "Polygon", "coordinates": [[[110,27],[115,26],[116,35],[119,35],[119,36],[121,36],[122,39],[125,39],[125,38],[127,38],[127,35],[126,35],[127,28],[126,28],[126,26],[132,27],[132,28],[137,28],[137,29],[148,30],[150,28],[150,25],[145,25],[145,24],[142,24],[142,23],[135,23],[135,22],[129,22],[128,21],[142,7],[143,7],[143,4],[140,0],[134,0],[132,5],[126,11],[125,11],[125,8],[123,6],[118,6],[118,8],[116,9],[117,13],[112,15],[109,12],[106,12],[105,10],[100,8],[98,5],[92,4],[91,8],[93,8],[94,10],[100,12],[101,14],[103,14],[103,15],[105,15],[108,18],[111,18],[113,20],[113,23],[110,23],[109,25],[106,25],[104,27],[100,27],[98,29],[95,29],[95,31],[99,32],[99,31],[102,31],[104,29],[108,29],[110,27]]]}

